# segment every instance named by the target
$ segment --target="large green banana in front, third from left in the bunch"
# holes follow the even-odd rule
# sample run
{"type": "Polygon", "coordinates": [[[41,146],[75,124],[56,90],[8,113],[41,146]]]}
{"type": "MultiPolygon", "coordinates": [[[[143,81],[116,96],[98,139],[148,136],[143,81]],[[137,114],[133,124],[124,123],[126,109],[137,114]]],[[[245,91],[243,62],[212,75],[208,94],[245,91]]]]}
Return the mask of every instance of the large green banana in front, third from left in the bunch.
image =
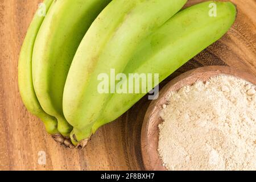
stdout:
{"type": "MultiPolygon", "coordinates": [[[[122,72],[137,46],[187,0],[113,0],[86,32],[69,69],[63,94],[74,144],[89,138],[110,94],[97,91],[100,73],[122,72]]],[[[86,142],[86,140],[85,140],[86,142]]]]}

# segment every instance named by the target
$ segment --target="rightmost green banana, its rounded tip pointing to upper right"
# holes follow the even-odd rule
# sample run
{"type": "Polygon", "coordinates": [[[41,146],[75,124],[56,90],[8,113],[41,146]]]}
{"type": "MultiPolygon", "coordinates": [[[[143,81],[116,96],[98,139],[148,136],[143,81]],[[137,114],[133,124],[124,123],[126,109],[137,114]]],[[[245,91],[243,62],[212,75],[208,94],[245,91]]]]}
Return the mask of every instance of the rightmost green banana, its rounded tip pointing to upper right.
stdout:
{"type": "MultiPolygon", "coordinates": [[[[159,81],[163,81],[197,53],[220,39],[234,23],[236,12],[236,6],[231,2],[216,1],[199,3],[180,11],[143,42],[124,73],[159,73],[159,81]],[[210,8],[214,5],[217,14],[210,16],[210,8]]],[[[143,96],[113,94],[93,126],[93,132],[125,113],[143,96]]]]}

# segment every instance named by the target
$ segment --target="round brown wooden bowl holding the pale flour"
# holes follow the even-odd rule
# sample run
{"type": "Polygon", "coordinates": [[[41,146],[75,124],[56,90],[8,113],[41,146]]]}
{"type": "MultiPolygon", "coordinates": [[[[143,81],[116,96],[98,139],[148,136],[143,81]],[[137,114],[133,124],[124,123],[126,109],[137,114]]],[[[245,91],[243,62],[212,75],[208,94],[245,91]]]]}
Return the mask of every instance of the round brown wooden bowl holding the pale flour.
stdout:
{"type": "Polygon", "coordinates": [[[168,93],[176,91],[185,85],[192,85],[196,81],[207,81],[210,77],[217,75],[231,75],[242,78],[256,85],[256,78],[249,73],[237,71],[234,68],[223,66],[210,66],[193,69],[168,82],[162,90],[160,90],[157,100],[151,102],[148,106],[144,117],[141,133],[142,158],[146,170],[164,171],[167,170],[162,166],[162,160],[158,154],[158,125],[162,122],[160,118],[160,110],[163,104],[167,104],[168,93]]]}

